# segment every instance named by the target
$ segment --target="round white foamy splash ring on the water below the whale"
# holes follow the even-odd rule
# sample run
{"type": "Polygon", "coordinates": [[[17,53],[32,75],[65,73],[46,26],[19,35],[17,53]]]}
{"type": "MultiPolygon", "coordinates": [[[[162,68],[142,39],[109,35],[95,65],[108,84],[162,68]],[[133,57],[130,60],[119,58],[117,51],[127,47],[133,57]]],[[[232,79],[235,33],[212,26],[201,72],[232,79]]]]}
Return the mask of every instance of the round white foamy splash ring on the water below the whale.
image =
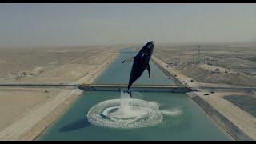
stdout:
{"type": "Polygon", "coordinates": [[[121,106],[123,100],[112,99],[93,106],[86,115],[96,126],[133,129],[157,125],[162,122],[162,114],[155,102],[140,99],[126,99],[129,105],[121,106]]]}

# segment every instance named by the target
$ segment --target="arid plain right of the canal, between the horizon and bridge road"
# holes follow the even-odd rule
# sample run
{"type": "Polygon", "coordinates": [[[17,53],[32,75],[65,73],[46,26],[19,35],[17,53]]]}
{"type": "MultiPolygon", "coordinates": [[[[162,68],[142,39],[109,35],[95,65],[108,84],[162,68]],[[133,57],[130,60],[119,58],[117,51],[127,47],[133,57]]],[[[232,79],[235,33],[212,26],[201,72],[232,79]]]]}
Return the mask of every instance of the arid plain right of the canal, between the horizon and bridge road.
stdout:
{"type": "Polygon", "coordinates": [[[154,55],[197,82],[255,86],[256,45],[156,46],[154,55]],[[216,69],[219,69],[217,73],[216,69]],[[225,72],[226,71],[226,72],[225,72]]]}

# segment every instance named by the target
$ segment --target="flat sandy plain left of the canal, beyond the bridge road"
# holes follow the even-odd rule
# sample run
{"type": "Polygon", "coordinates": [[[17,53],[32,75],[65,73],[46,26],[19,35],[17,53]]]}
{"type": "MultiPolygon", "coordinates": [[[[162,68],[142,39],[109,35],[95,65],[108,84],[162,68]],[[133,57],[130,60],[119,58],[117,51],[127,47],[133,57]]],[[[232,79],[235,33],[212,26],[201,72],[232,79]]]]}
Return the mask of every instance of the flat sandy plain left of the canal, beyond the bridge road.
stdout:
{"type": "Polygon", "coordinates": [[[113,55],[116,47],[1,50],[0,82],[74,82],[113,55]],[[19,52],[18,52],[19,51],[19,52]]]}

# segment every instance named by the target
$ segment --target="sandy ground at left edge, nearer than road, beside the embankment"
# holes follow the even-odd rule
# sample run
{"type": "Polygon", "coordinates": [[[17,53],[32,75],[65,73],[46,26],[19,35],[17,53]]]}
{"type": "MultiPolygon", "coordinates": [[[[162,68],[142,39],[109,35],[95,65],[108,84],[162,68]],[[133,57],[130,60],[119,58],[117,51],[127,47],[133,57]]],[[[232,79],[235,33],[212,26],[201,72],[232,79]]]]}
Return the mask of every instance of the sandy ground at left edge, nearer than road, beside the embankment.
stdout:
{"type": "Polygon", "coordinates": [[[27,112],[32,107],[42,104],[59,91],[58,89],[47,90],[49,90],[49,93],[45,93],[44,89],[1,88],[0,130],[16,122],[20,118],[21,112],[27,112]]]}

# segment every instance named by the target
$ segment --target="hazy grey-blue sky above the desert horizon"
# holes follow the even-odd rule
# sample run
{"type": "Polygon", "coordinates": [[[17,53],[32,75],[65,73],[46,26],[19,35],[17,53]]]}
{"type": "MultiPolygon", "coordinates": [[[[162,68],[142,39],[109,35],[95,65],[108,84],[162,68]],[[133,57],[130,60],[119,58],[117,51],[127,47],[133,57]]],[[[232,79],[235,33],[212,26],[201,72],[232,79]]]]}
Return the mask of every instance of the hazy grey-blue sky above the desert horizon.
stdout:
{"type": "Polygon", "coordinates": [[[256,4],[0,4],[0,46],[256,41],[256,4]]]}

